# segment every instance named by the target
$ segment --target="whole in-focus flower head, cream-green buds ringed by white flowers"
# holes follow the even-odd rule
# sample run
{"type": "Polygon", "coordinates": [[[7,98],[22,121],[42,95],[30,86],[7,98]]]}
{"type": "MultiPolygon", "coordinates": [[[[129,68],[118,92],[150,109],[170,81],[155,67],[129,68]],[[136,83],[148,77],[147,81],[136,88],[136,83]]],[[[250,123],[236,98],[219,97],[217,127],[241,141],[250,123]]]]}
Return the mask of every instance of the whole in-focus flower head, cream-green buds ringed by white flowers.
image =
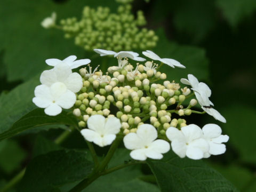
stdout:
{"type": "Polygon", "coordinates": [[[207,113],[226,122],[211,107],[210,88],[193,75],[181,79],[191,88],[181,87],[177,82],[166,81],[166,74],[159,71],[162,65],[185,68],[180,62],[161,58],[149,50],[142,54],[150,60],[132,51],[94,51],[102,57],[113,55],[117,65],[110,66],[106,74],[88,65],[79,69],[79,75],[71,69],[90,60],[75,61],[75,56],[63,61],[46,60],[54,68],[42,73],[43,85],[36,87],[33,102],[45,108],[48,115],[59,114],[61,108],[71,108],[87,141],[104,147],[117,137],[123,138],[131,157],[139,161],[161,159],[170,148],[181,158],[191,159],[225,153],[223,142],[229,138],[221,134],[220,126],[206,124],[201,129],[195,124],[188,125],[185,119],[193,113],[207,113]],[[134,66],[132,62],[137,63],[134,66]],[[161,80],[164,82],[157,83],[161,80]],[[185,100],[189,101],[188,106],[183,105],[185,100]],[[192,109],[196,109],[197,102],[203,111],[192,109]]]}

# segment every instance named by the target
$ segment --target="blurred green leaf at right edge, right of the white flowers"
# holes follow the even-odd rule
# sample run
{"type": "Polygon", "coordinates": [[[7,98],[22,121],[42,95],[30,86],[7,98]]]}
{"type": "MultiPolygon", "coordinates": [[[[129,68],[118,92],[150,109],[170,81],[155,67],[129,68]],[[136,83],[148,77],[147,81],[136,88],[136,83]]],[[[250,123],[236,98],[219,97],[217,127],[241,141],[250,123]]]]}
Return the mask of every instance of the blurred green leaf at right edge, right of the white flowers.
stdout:
{"type": "Polygon", "coordinates": [[[231,104],[222,110],[222,115],[227,123],[222,125],[222,130],[229,135],[229,143],[238,151],[239,158],[248,163],[256,163],[255,124],[256,110],[237,104],[231,104]]]}

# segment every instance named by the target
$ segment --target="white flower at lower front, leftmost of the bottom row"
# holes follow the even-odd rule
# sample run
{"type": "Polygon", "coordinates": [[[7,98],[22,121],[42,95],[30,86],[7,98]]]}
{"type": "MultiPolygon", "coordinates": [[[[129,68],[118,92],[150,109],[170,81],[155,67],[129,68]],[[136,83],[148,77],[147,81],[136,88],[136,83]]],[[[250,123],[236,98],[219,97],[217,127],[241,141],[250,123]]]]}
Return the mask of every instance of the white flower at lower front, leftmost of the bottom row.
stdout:
{"type": "Polygon", "coordinates": [[[121,123],[118,118],[109,117],[106,119],[102,115],[89,117],[87,126],[89,129],[81,130],[81,134],[87,141],[94,142],[100,147],[110,145],[121,129],[121,123]]]}

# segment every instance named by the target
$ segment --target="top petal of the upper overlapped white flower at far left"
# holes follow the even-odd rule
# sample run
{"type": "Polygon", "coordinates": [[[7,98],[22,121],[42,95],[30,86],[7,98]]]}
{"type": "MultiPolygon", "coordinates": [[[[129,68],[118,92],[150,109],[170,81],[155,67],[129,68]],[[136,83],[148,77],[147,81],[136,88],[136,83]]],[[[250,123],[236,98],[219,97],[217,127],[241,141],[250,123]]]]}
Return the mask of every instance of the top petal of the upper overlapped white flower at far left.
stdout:
{"type": "Polygon", "coordinates": [[[60,82],[64,82],[72,73],[71,68],[65,62],[59,63],[57,66],[53,68],[53,70],[57,76],[58,81],[60,82]]]}

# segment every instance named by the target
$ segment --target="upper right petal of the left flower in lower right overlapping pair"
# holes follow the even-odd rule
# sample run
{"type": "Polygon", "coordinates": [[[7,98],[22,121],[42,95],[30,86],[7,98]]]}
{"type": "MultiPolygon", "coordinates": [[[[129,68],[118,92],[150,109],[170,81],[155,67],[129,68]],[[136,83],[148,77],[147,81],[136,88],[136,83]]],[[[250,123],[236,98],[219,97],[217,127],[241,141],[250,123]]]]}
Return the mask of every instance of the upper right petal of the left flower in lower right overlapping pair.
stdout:
{"type": "Polygon", "coordinates": [[[199,126],[195,124],[190,124],[181,127],[182,133],[185,135],[188,142],[202,137],[202,130],[199,126]]]}

